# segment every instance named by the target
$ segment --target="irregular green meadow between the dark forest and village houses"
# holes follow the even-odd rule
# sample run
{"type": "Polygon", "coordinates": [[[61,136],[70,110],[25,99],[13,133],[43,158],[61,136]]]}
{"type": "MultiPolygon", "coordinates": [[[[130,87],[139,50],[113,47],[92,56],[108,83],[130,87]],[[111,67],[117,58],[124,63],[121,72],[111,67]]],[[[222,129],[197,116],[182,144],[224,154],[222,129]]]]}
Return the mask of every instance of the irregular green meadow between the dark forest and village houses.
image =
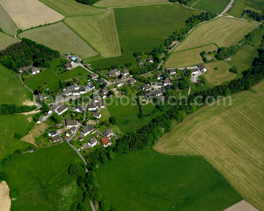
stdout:
{"type": "Polygon", "coordinates": [[[73,77],[84,77],[87,74],[89,74],[89,72],[81,66],[71,69],[59,76],[51,68],[48,68],[30,78],[25,84],[32,90],[35,90],[39,85],[44,85],[44,83],[47,82],[49,90],[55,91],[59,88],[59,80],[71,80],[73,77]]]}

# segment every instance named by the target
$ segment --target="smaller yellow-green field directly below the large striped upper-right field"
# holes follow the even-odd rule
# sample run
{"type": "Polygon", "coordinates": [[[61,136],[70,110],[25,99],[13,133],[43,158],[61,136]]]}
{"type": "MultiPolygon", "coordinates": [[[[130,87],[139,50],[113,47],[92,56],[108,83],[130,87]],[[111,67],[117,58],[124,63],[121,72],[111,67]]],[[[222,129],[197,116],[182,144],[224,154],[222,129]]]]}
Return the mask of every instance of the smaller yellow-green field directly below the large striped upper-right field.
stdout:
{"type": "Polygon", "coordinates": [[[199,63],[203,63],[202,57],[200,55],[202,51],[206,51],[207,53],[208,51],[214,51],[217,49],[218,48],[216,45],[210,44],[198,48],[175,51],[168,57],[168,59],[166,60],[163,66],[167,68],[191,67],[199,63]]]}

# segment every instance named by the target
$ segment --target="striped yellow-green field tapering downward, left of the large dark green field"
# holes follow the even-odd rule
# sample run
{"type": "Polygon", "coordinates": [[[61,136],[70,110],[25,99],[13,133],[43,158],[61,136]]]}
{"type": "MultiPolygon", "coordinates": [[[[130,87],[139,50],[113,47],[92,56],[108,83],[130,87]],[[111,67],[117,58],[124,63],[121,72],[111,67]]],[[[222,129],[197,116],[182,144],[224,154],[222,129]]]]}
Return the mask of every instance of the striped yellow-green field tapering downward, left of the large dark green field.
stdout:
{"type": "Polygon", "coordinates": [[[103,57],[121,55],[114,10],[101,15],[69,17],[65,23],[103,57]]]}

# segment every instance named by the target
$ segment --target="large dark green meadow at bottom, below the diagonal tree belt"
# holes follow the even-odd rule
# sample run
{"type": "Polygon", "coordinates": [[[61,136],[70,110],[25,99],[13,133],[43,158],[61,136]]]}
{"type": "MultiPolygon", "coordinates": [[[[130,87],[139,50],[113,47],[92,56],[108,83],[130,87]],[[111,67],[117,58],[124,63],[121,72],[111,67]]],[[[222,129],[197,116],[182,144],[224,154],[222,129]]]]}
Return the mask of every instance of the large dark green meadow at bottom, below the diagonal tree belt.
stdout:
{"type": "Polygon", "coordinates": [[[111,208],[126,211],[222,211],[242,200],[202,157],[169,156],[151,149],[116,156],[100,166],[97,180],[111,208]]]}

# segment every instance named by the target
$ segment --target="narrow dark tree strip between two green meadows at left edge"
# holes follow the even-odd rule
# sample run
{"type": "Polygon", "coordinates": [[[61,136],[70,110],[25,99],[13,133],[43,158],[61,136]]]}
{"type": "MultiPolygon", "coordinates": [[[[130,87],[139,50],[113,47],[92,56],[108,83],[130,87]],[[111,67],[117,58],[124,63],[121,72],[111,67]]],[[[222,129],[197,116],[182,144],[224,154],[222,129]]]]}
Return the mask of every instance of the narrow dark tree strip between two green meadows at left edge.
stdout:
{"type": "Polygon", "coordinates": [[[33,111],[37,108],[37,106],[17,106],[16,104],[1,104],[0,105],[0,115],[3,114],[17,114],[22,112],[33,111]]]}

